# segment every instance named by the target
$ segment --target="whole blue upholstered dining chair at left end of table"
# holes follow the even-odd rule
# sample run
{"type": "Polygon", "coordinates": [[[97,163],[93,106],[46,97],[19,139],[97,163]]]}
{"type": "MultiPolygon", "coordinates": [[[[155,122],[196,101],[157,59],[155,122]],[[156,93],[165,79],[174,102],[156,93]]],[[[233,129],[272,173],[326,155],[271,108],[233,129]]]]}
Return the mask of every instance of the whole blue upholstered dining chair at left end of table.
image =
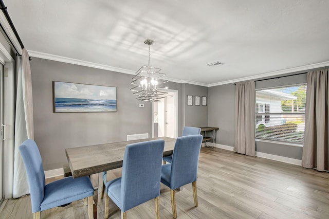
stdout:
{"type": "Polygon", "coordinates": [[[45,173],[38,146],[32,139],[25,140],[19,148],[27,172],[33,218],[41,211],[63,206],[88,197],[88,216],[94,218],[94,188],[89,177],[66,177],[45,185],[45,173]]]}

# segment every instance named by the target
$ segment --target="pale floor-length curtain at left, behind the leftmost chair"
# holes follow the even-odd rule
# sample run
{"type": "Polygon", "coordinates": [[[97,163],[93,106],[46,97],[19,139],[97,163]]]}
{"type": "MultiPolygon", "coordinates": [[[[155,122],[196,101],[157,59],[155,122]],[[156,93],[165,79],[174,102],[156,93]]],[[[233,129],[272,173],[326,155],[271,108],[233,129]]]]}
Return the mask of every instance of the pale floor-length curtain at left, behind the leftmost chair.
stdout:
{"type": "Polygon", "coordinates": [[[33,102],[32,81],[29,54],[24,48],[22,57],[16,58],[17,96],[15,112],[15,147],[14,147],[14,180],[13,197],[29,193],[25,166],[19,151],[23,141],[33,139],[33,102]]]}

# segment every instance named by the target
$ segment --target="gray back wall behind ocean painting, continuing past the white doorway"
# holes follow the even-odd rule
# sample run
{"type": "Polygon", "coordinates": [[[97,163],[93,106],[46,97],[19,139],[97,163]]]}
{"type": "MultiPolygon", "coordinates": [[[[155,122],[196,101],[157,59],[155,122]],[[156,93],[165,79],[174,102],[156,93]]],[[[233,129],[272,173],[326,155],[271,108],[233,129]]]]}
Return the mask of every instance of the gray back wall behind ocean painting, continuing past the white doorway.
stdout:
{"type": "MultiPolygon", "coordinates": [[[[33,58],[32,72],[34,140],[39,146],[44,169],[61,168],[67,162],[66,148],[126,140],[126,135],[149,133],[152,136],[152,103],[138,106],[130,90],[132,75],[33,58]],[[52,81],[117,87],[117,112],[53,113],[52,81]]],[[[186,116],[186,91],[207,96],[207,87],[168,82],[178,90],[178,135],[185,120],[191,126],[207,125],[207,108],[192,106],[186,116]],[[195,110],[195,112],[193,112],[195,110]],[[187,119],[185,119],[187,118],[187,119]]]]}

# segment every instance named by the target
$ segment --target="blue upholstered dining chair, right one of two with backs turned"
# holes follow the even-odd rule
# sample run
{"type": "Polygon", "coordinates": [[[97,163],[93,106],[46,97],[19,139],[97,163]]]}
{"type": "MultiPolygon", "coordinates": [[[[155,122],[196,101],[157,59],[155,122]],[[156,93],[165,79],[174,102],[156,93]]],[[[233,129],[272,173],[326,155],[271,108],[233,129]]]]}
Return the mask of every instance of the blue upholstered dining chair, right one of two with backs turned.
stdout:
{"type": "Polygon", "coordinates": [[[192,182],[194,206],[197,207],[196,179],[202,135],[177,138],[172,162],[161,167],[161,182],[170,188],[173,217],[177,217],[175,191],[192,182]]]}

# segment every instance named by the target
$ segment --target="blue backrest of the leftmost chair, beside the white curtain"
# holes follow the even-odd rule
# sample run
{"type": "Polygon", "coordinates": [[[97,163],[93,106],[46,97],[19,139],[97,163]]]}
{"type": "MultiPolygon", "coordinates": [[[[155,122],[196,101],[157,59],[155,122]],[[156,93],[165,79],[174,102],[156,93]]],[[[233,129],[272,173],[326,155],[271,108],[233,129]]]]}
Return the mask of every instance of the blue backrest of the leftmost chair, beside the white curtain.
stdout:
{"type": "Polygon", "coordinates": [[[40,211],[45,188],[45,172],[42,166],[41,155],[38,146],[32,139],[25,140],[19,149],[29,182],[32,212],[38,212],[40,211]]]}

